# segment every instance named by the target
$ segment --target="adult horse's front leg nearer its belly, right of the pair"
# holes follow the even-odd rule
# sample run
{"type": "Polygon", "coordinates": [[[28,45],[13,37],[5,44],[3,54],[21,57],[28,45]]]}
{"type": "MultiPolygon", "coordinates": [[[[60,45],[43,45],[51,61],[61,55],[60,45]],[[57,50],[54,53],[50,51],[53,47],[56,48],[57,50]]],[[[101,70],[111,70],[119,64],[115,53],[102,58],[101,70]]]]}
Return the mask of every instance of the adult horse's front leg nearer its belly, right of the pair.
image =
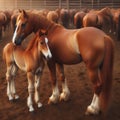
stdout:
{"type": "Polygon", "coordinates": [[[67,85],[67,80],[64,75],[64,66],[62,64],[57,64],[60,80],[62,81],[62,93],[60,94],[60,100],[67,101],[70,96],[70,91],[67,85]]]}

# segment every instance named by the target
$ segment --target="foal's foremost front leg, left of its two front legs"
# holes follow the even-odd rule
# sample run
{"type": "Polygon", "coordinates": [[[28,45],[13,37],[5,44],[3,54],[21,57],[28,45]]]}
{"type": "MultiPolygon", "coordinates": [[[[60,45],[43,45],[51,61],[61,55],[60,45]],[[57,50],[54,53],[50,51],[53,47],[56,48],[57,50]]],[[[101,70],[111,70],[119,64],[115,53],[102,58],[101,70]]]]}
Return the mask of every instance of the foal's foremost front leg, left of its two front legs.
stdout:
{"type": "Polygon", "coordinates": [[[29,111],[32,112],[34,111],[33,108],[33,101],[32,101],[32,97],[33,97],[33,92],[34,92],[34,75],[31,72],[27,73],[27,78],[28,78],[28,99],[27,99],[27,105],[29,107],[29,111]]]}

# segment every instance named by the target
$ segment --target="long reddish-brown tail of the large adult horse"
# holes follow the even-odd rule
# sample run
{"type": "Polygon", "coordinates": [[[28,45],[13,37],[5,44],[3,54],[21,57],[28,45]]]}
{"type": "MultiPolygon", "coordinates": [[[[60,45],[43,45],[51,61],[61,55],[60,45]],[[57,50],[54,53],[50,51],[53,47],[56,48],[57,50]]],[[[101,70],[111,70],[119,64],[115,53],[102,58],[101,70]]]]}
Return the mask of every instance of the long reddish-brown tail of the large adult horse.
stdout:
{"type": "Polygon", "coordinates": [[[109,36],[105,36],[105,54],[104,60],[100,68],[101,80],[103,83],[102,91],[100,94],[101,108],[105,112],[108,108],[112,88],[112,73],[114,61],[114,44],[109,36]]]}

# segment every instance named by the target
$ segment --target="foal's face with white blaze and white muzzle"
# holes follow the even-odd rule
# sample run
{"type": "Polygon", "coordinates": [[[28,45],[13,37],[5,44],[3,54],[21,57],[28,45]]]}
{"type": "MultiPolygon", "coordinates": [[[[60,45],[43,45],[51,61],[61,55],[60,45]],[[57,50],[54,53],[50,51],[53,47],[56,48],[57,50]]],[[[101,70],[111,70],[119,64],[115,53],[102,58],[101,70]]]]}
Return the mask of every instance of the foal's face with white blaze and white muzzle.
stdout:
{"type": "Polygon", "coordinates": [[[48,38],[45,36],[41,36],[39,39],[39,49],[46,59],[50,59],[52,57],[51,51],[48,46],[48,38]]]}

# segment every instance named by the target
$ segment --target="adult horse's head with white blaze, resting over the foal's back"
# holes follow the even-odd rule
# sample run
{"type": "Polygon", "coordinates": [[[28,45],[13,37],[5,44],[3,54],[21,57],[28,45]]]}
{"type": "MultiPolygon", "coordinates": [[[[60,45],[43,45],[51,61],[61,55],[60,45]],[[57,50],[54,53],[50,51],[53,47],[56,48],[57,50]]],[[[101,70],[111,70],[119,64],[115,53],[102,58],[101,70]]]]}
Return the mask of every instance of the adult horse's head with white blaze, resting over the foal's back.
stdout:
{"type": "Polygon", "coordinates": [[[13,34],[12,42],[16,45],[20,45],[23,39],[32,32],[30,27],[30,21],[27,13],[23,10],[19,14],[16,20],[16,29],[13,34]]]}

